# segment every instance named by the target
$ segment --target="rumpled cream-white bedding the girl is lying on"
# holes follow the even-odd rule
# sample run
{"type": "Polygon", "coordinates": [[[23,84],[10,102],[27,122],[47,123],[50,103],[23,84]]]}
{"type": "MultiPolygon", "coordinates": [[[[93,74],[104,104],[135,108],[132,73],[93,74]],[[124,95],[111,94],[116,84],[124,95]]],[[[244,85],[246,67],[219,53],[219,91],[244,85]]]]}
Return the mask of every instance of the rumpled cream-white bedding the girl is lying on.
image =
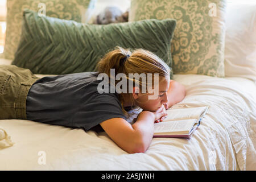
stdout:
{"type": "Polygon", "coordinates": [[[172,108],[209,106],[191,138],[153,138],[146,152],[128,154],[105,132],[0,120],[14,142],[0,150],[0,170],[255,170],[255,82],[204,75],[174,80],[187,96],[172,108]]]}

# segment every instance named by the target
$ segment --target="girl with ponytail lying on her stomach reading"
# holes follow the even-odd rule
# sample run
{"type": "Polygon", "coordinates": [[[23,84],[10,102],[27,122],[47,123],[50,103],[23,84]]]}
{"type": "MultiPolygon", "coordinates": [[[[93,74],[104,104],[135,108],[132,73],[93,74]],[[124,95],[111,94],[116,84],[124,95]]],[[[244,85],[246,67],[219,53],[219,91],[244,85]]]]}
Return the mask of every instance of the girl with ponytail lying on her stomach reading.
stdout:
{"type": "Polygon", "coordinates": [[[143,49],[131,52],[117,47],[99,61],[97,72],[38,78],[29,69],[0,65],[0,119],[27,119],[85,131],[100,125],[128,153],[145,152],[154,122],[162,121],[166,109],[184,97],[184,86],[170,80],[167,64],[143,49]],[[152,79],[131,77],[136,73],[151,73],[152,79]],[[118,74],[128,81],[124,77],[119,81],[118,74]],[[108,81],[102,79],[104,75],[108,81]],[[118,85],[121,81],[126,84],[118,85]],[[129,88],[130,81],[134,84],[129,88]],[[102,92],[106,88],[109,92],[102,92]],[[127,109],[134,107],[143,111],[131,125],[126,121],[127,109]]]}

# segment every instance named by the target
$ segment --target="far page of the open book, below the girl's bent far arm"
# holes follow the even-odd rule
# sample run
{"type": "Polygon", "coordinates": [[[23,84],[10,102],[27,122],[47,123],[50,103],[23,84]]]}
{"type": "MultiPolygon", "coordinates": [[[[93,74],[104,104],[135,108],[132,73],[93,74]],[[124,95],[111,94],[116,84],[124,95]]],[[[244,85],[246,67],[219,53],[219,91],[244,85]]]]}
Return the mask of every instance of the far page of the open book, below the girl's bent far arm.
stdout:
{"type": "Polygon", "coordinates": [[[207,110],[208,106],[168,109],[168,115],[166,118],[164,118],[164,121],[173,121],[180,119],[197,119],[198,121],[201,117],[203,117],[207,110]]]}

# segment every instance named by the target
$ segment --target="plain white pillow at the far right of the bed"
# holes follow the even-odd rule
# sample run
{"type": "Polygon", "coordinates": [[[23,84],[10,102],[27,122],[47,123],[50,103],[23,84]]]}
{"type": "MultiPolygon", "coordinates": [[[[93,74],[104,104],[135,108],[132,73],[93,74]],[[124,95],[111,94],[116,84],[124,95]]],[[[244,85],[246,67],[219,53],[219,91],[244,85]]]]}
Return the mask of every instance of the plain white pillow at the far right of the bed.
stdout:
{"type": "Polygon", "coordinates": [[[256,82],[256,5],[228,3],[225,75],[245,77],[256,82]]]}

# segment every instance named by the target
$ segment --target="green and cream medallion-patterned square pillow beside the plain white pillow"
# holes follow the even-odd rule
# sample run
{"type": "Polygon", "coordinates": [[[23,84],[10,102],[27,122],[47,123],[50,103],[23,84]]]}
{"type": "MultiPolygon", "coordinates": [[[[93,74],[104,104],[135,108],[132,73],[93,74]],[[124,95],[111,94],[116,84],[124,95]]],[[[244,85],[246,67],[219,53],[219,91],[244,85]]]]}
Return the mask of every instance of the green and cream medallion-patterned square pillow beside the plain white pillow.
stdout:
{"type": "Polygon", "coordinates": [[[224,77],[225,0],[131,0],[129,22],[174,18],[174,74],[224,77]]]}

